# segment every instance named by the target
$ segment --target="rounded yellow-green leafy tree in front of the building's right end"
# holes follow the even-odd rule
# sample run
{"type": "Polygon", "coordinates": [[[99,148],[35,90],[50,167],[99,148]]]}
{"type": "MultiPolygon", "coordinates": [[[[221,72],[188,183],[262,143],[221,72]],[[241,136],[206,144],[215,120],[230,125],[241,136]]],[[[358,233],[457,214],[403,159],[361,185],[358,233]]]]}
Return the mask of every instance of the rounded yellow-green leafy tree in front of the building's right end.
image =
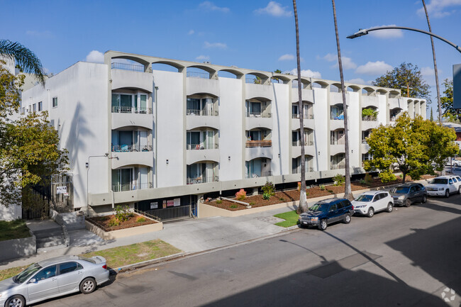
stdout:
{"type": "Polygon", "coordinates": [[[380,125],[367,138],[372,160],[365,161],[365,170],[379,169],[383,182],[395,179],[394,169],[419,179],[423,174],[441,171],[444,162],[459,152],[455,130],[421,116],[411,119],[407,112],[396,120],[394,126],[380,125]],[[435,164],[433,166],[432,164],[435,164]]]}

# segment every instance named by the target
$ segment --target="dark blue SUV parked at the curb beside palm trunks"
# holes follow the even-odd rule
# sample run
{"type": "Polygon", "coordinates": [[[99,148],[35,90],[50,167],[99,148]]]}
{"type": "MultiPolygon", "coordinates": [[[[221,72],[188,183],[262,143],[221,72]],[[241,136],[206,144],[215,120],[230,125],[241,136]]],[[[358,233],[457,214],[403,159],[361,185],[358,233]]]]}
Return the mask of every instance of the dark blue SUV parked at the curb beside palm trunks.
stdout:
{"type": "Polygon", "coordinates": [[[299,215],[299,225],[316,225],[320,230],[326,230],[328,224],[342,221],[350,223],[354,214],[354,206],[347,199],[325,199],[318,201],[309,208],[309,212],[299,215]]]}

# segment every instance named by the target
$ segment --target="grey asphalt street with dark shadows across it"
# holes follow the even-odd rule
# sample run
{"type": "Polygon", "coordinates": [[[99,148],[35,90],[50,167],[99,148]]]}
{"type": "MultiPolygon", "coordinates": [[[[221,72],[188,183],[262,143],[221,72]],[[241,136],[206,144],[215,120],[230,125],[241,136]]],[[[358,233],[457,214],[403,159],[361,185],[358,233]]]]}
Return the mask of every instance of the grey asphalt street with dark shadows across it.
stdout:
{"type": "Polygon", "coordinates": [[[118,274],[93,294],[34,306],[458,307],[460,255],[454,195],[118,274]]]}

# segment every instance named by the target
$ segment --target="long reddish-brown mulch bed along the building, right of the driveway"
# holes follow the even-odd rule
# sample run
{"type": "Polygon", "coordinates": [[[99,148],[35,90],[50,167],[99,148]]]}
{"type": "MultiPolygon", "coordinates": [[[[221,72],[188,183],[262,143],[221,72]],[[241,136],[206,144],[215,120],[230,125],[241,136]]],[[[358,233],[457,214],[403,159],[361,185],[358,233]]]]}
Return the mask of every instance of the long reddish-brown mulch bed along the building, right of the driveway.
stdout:
{"type": "MultiPolygon", "coordinates": [[[[429,179],[433,177],[434,176],[431,176],[431,175],[424,175],[421,177],[421,179],[429,179]]],[[[411,181],[411,177],[407,176],[406,182],[410,182],[410,181],[411,181]]],[[[351,186],[352,191],[358,191],[362,189],[376,188],[379,186],[389,186],[392,184],[400,184],[401,182],[402,182],[402,179],[400,177],[397,177],[397,179],[394,180],[393,182],[387,182],[387,183],[382,183],[381,179],[374,178],[372,184],[370,185],[360,184],[360,182],[352,182],[350,186],[351,186]]],[[[340,194],[340,193],[344,193],[344,185],[342,186],[325,185],[324,190],[321,190],[319,186],[314,186],[311,189],[307,189],[307,193],[308,193],[307,199],[313,199],[315,197],[320,197],[320,196],[340,194]]],[[[258,195],[253,195],[253,196],[247,196],[243,201],[245,203],[250,203],[252,208],[270,206],[270,205],[275,205],[277,203],[287,203],[289,201],[299,201],[299,191],[295,189],[295,190],[275,192],[275,195],[267,200],[262,199],[262,194],[258,194],[258,195]]],[[[228,211],[239,211],[239,210],[246,209],[245,205],[242,205],[240,203],[234,203],[233,201],[226,201],[224,199],[222,203],[216,203],[216,200],[205,201],[205,203],[207,205],[226,209],[228,211]]]]}

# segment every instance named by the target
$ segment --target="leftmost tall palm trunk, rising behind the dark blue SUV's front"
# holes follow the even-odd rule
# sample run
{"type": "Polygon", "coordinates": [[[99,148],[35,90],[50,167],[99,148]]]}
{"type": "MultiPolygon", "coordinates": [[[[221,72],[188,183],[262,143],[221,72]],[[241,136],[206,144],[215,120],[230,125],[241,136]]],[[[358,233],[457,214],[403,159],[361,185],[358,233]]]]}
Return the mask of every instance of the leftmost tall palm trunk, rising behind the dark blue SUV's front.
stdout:
{"type": "Polygon", "coordinates": [[[298,69],[298,106],[299,106],[299,133],[301,134],[301,189],[299,189],[299,206],[298,213],[308,210],[306,202],[306,162],[304,151],[304,110],[303,99],[301,96],[301,58],[299,57],[299,28],[298,28],[298,11],[296,11],[296,0],[293,0],[294,23],[296,26],[296,64],[298,69]]]}

